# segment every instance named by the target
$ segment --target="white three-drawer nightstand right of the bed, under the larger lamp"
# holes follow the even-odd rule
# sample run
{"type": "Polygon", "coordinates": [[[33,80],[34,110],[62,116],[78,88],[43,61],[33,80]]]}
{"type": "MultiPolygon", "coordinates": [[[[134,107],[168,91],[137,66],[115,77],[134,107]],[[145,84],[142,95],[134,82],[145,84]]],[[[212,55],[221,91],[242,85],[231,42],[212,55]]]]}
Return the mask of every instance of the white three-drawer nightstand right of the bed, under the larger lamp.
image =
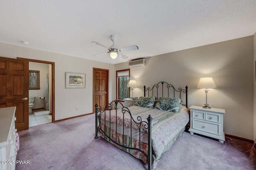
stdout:
{"type": "Polygon", "coordinates": [[[190,129],[191,134],[198,133],[216,138],[224,143],[223,115],[225,109],[205,109],[202,106],[190,106],[190,129]]]}

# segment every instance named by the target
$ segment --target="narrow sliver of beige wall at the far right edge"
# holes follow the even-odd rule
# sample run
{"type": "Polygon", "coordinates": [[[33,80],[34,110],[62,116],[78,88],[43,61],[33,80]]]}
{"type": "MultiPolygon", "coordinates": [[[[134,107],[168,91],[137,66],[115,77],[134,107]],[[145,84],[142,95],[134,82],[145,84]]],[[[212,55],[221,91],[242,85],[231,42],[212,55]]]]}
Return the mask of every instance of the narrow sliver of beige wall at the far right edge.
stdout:
{"type": "Polygon", "coordinates": [[[256,138],[256,70],[255,70],[255,68],[256,68],[256,33],[254,34],[254,77],[255,77],[255,79],[254,79],[254,102],[253,102],[253,104],[254,104],[254,135],[253,135],[253,138],[254,138],[254,140],[255,140],[255,138],[256,138]]]}

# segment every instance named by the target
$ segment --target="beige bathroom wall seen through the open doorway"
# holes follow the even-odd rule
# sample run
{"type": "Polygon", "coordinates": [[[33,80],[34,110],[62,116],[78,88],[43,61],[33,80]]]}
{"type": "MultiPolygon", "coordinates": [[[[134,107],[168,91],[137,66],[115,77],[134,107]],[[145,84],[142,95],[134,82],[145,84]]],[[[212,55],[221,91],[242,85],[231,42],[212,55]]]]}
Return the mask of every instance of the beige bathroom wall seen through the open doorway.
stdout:
{"type": "Polygon", "coordinates": [[[29,90],[29,96],[34,96],[34,108],[44,108],[44,99],[40,99],[40,97],[45,97],[46,91],[46,74],[49,73],[49,65],[44,63],[35,63],[29,62],[29,69],[36,70],[39,72],[40,78],[40,89],[38,90],[29,90]]]}

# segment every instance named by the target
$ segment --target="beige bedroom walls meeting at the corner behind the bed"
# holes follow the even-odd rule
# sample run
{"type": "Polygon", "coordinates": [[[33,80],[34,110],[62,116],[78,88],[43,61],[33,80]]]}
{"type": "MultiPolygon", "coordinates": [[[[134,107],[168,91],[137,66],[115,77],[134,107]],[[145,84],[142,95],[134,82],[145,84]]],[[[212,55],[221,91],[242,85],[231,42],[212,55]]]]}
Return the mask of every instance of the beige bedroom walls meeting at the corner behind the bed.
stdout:
{"type": "MultiPolygon", "coordinates": [[[[143,86],[159,81],[175,87],[188,85],[188,105],[205,103],[203,89],[196,86],[200,77],[213,77],[217,89],[210,89],[208,103],[226,109],[224,132],[243,138],[256,136],[254,113],[255,34],[226,42],[195,47],[173,53],[148,57],[145,67],[130,69],[131,79],[137,81],[134,95],[143,95],[143,86]]],[[[23,57],[55,62],[55,119],[65,119],[92,113],[92,68],[110,70],[109,87],[115,88],[116,70],[128,68],[128,62],[111,65],[68,55],[0,43],[1,57],[23,57]],[[65,89],[65,72],[86,74],[85,89],[65,89]],[[76,111],[78,107],[78,111],[76,111]]],[[[109,100],[116,97],[110,88],[109,100]]]]}

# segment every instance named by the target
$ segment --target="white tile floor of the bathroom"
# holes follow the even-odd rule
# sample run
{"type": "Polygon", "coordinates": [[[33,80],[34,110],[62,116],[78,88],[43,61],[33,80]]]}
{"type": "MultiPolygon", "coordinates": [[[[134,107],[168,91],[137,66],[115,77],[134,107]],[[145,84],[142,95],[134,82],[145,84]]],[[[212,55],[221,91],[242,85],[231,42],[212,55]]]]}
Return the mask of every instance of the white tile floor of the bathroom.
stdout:
{"type": "Polygon", "coordinates": [[[29,121],[28,121],[28,126],[33,127],[37,125],[42,125],[46,123],[51,123],[52,122],[52,115],[34,115],[34,113],[29,114],[29,121]]]}

